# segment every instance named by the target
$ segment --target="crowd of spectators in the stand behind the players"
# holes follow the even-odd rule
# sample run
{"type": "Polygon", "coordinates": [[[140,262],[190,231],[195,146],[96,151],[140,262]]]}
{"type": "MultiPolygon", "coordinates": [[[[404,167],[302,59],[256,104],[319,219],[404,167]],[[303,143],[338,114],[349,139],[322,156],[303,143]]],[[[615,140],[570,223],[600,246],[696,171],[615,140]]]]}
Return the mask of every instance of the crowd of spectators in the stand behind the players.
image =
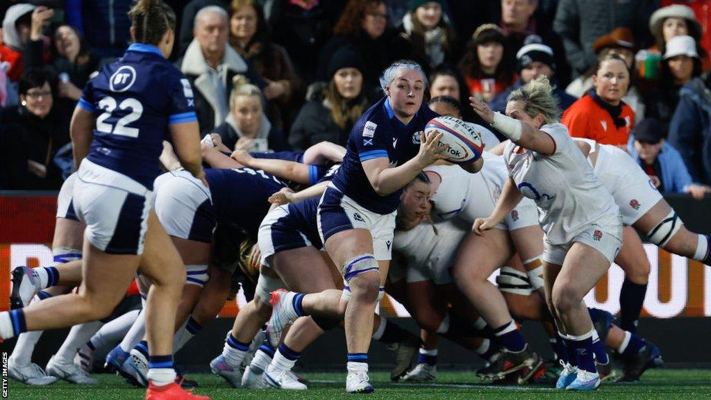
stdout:
{"type": "MultiPolygon", "coordinates": [[[[129,41],[132,0],[0,5],[0,189],[57,190],[82,88],[129,41]]],[[[345,144],[395,60],[432,98],[505,112],[538,75],[571,135],[636,157],[663,191],[711,184],[711,0],[167,0],[202,135],[230,149],[345,144]],[[449,101],[449,100],[448,100],[449,101]]]]}

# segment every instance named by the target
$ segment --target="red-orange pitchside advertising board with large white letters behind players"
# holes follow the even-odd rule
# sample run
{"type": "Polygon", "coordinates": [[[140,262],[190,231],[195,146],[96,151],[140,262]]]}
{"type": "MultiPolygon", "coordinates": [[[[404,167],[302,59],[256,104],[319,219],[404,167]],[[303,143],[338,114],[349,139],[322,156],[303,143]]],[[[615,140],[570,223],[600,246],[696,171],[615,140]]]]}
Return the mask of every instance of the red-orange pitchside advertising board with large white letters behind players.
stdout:
{"type": "MultiPolygon", "coordinates": [[[[711,229],[708,223],[711,199],[673,200],[670,199],[670,203],[690,228],[702,231],[698,227],[701,225],[707,230],[711,229]],[[683,211],[680,206],[683,206],[683,211]],[[690,217],[692,214],[699,217],[693,220],[690,217]]],[[[55,210],[55,194],[0,196],[0,310],[9,309],[12,268],[18,265],[52,265],[50,246],[55,210]]],[[[645,250],[651,264],[651,273],[643,315],[657,318],[711,316],[711,268],[672,255],[651,244],[646,244],[645,250]]],[[[489,279],[494,282],[497,274],[494,273],[489,279]]],[[[619,312],[619,291],[623,280],[624,272],[619,266],[612,265],[604,278],[585,297],[585,302],[590,307],[613,314],[619,312]]],[[[245,304],[245,297],[240,292],[235,302],[225,304],[220,316],[234,317],[245,304]]],[[[389,317],[410,316],[405,307],[389,297],[381,302],[380,313],[389,317]]]]}

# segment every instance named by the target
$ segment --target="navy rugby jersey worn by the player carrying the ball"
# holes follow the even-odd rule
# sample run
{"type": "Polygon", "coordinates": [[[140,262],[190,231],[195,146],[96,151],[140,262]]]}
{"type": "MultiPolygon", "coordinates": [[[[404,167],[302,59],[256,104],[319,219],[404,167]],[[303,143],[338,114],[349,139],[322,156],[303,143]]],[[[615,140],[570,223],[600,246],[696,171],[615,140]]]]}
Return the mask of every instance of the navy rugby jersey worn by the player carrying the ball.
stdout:
{"type": "Polygon", "coordinates": [[[424,125],[434,117],[439,117],[439,114],[423,102],[415,117],[405,125],[395,117],[387,97],[378,100],[353,126],[346,144],[346,157],[343,157],[343,164],[333,177],[333,184],[360,206],[376,214],[395,211],[402,189],[379,196],[365,176],[361,162],[387,157],[390,167],[405,164],[417,155],[424,125]]]}

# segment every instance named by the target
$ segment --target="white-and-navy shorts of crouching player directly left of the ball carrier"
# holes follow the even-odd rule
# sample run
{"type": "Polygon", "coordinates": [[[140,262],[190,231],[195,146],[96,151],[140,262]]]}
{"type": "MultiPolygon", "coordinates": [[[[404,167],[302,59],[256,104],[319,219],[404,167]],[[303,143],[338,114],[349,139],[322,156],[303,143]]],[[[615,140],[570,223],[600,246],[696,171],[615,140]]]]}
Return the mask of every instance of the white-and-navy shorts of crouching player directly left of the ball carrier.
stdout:
{"type": "Polygon", "coordinates": [[[288,206],[269,211],[260,224],[257,243],[262,254],[261,263],[269,268],[272,268],[272,256],[280,251],[314,246],[304,233],[289,224],[288,206]]]}

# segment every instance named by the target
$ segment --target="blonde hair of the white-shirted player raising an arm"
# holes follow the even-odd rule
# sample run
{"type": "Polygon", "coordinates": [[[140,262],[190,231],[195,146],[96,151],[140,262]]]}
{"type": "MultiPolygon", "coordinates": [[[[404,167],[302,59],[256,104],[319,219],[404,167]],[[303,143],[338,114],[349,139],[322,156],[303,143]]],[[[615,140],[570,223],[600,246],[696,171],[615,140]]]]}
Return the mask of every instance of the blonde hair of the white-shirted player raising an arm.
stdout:
{"type": "Polygon", "coordinates": [[[553,96],[553,87],[545,76],[539,76],[521,88],[513,90],[506,100],[523,101],[523,111],[531,118],[542,114],[546,124],[557,122],[560,118],[558,100],[553,96]]]}

